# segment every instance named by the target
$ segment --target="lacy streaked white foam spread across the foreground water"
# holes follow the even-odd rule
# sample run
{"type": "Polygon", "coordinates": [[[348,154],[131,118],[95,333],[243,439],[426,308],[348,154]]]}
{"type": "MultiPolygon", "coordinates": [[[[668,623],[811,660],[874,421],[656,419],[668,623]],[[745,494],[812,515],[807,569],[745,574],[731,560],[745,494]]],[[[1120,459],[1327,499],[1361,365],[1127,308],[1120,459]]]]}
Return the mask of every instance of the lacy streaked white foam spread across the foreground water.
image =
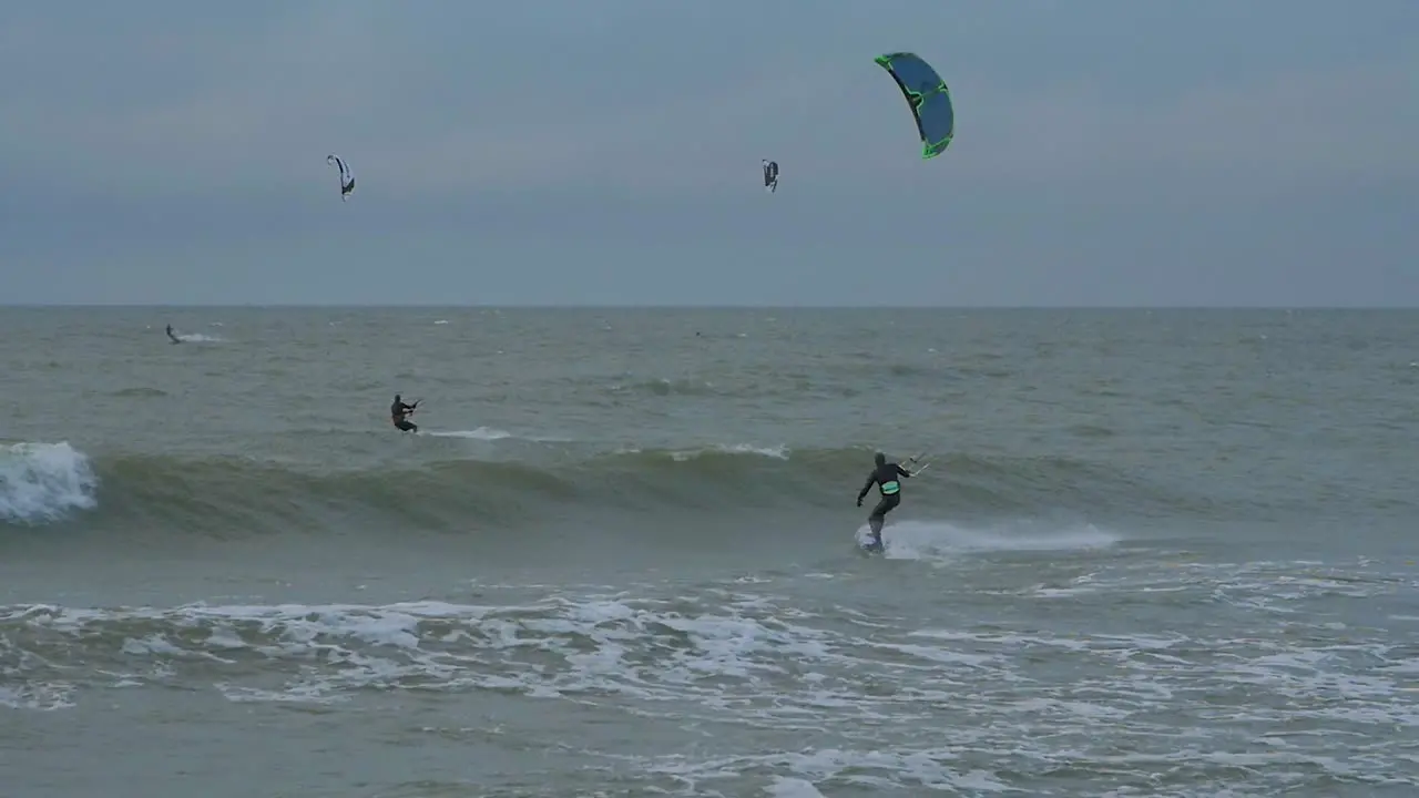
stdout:
{"type": "MultiPolygon", "coordinates": [[[[1132,592],[1139,578],[1174,579],[1203,595],[1264,592],[1276,582],[1254,564],[1165,575],[1130,568],[1091,567],[1077,581],[1132,592]]],[[[1321,579],[1298,584],[1327,589],[1311,582],[1321,579]]],[[[1236,767],[1252,768],[1250,785],[1271,792],[1297,789],[1300,770],[1313,784],[1327,774],[1412,784],[1403,770],[1413,761],[1405,736],[1419,727],[1408,693],[1412,647],[1382,633],[1357,639],[1325,619],[1296,621],[1284,633],[1257,615],[1240,625],[1135,625],[1130,633],[1112,618],[1056,630],[982,623],[969,608],[910,621],[871,603],[795,601],[746,579],[677,585],[663,599],[654,585],[478,589],[545,598],[0,606],[0,660],[14,663],[7,683],[24,684],[0,687],[0,704],[101,706],[101,689],[133,684],[206,689],[230,701],[338,704],[373,689],[595,703],[680,728],[742,730],[751,743],[729,750],[603,754],[707,795],[1032,794],[1026,787],[1040,784],[1032,772],[1083,760],[1105,765],[1095,772],[1100,795],[1159,770],[1195,780],[1178,795],[1219,795],[1218,780],[1235,778],[1236,767]],[[95,672],[88,663],[116,665],[95,672]],[[77,687],[45,682],[54,674],[77,687]],[[1192,700],[1237,690],[1247,700],[1192,700]],[[1264,740],[1273,750],[1239,744],[1233,727],[1274,736],[1264,740]],[[795,734],[795,743],[773,750],[753,743],[758,730],[795,734]],[[1365,744],[1337,748],[1338,734],[1365,744]]],[[[1369,589],[1408,595],[1409,586],[1375,581],[1369,589]]],[[[1025,605],[1051,601],[1029,591],[1002,595],[1025,605]]]]}

